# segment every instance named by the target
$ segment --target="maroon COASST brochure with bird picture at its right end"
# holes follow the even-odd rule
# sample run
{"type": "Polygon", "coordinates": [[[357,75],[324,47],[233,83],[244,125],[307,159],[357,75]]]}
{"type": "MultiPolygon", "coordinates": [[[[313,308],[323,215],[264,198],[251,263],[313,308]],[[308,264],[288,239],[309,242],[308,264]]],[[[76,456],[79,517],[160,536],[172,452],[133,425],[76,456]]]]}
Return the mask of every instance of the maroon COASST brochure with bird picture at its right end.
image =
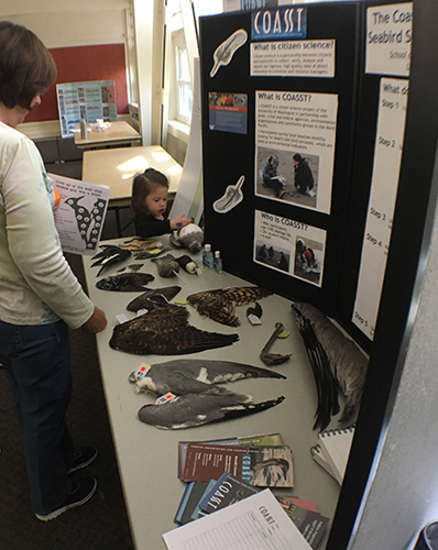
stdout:
{"type": "Polygon", "coordinates": [[[294,486],[293,455],[287,446],[243,447],[188,442],[184,446],[184,461],[183,447],[179,449],[178,477],[185,482],[218,480],[223,472],[230,472],[255,486],[294,486]]]}

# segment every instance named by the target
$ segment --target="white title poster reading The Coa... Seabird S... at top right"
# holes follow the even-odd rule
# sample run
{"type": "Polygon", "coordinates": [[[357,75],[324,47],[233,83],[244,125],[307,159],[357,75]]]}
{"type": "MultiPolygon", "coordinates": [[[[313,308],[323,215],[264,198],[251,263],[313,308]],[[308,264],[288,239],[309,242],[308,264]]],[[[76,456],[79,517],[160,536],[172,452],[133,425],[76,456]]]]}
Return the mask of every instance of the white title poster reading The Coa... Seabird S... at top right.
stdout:
{"type": "Polygon", "coordinates": [[[365,73],[409,76],[413,2],[366,10],[365,73]]]}

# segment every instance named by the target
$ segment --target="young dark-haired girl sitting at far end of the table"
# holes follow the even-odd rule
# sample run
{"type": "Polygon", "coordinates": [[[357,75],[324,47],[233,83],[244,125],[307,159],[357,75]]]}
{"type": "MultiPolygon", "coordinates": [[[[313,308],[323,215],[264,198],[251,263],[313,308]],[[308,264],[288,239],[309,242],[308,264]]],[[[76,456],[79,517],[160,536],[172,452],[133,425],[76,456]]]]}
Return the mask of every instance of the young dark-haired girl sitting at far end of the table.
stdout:
{"type": "Polygon", "coordinates": [[[173,220],[166,219],[168,179],[155,168],[138,174],[132,184],[132,210],[134,211],[135,233],[139,237],[155,237],[172,233],[191,223],[184,213],[173,220]]]}

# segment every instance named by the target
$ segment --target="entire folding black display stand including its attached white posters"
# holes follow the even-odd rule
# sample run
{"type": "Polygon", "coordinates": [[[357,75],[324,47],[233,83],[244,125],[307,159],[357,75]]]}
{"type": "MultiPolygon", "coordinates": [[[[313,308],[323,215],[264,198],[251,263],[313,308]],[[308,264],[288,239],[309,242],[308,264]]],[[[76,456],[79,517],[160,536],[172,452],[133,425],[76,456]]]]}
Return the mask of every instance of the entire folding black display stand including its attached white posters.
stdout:
{"type": "Polygon", "coordinates": [[[347,549],[351,538],[415,317],[437,195],[437,23],[431,0],[294,4],[200,22],[207,242],[221,251],[227,271],[311,302],[370,353],[327,550],[347,549]],[[285,21],[304,34],[282,35],[285,21]],[[317,53],[313,65],[296,53],[298,42],[302,53],[317,53]],[[294,188],[297,153],[314,174],[307,193],[294,188]],[[242,176],[243,200],[226,213],[215,210],[242,176]],[[262,251],[270,243],[271,264],[262,251]],[[302,258],[303,244],[319,271],[302,258]]]}

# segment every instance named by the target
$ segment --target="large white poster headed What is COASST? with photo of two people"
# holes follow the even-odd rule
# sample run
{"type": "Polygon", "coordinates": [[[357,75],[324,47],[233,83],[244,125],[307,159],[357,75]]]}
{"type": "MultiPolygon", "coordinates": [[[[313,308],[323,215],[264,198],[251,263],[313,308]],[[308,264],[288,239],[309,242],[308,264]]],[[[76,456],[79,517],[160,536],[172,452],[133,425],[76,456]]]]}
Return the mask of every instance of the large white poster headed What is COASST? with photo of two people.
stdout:
{"type": "Polygon", "coordinates": [[[329,213],[337,116],[336,94],[256,91],[255,195],[329,213]]]}

